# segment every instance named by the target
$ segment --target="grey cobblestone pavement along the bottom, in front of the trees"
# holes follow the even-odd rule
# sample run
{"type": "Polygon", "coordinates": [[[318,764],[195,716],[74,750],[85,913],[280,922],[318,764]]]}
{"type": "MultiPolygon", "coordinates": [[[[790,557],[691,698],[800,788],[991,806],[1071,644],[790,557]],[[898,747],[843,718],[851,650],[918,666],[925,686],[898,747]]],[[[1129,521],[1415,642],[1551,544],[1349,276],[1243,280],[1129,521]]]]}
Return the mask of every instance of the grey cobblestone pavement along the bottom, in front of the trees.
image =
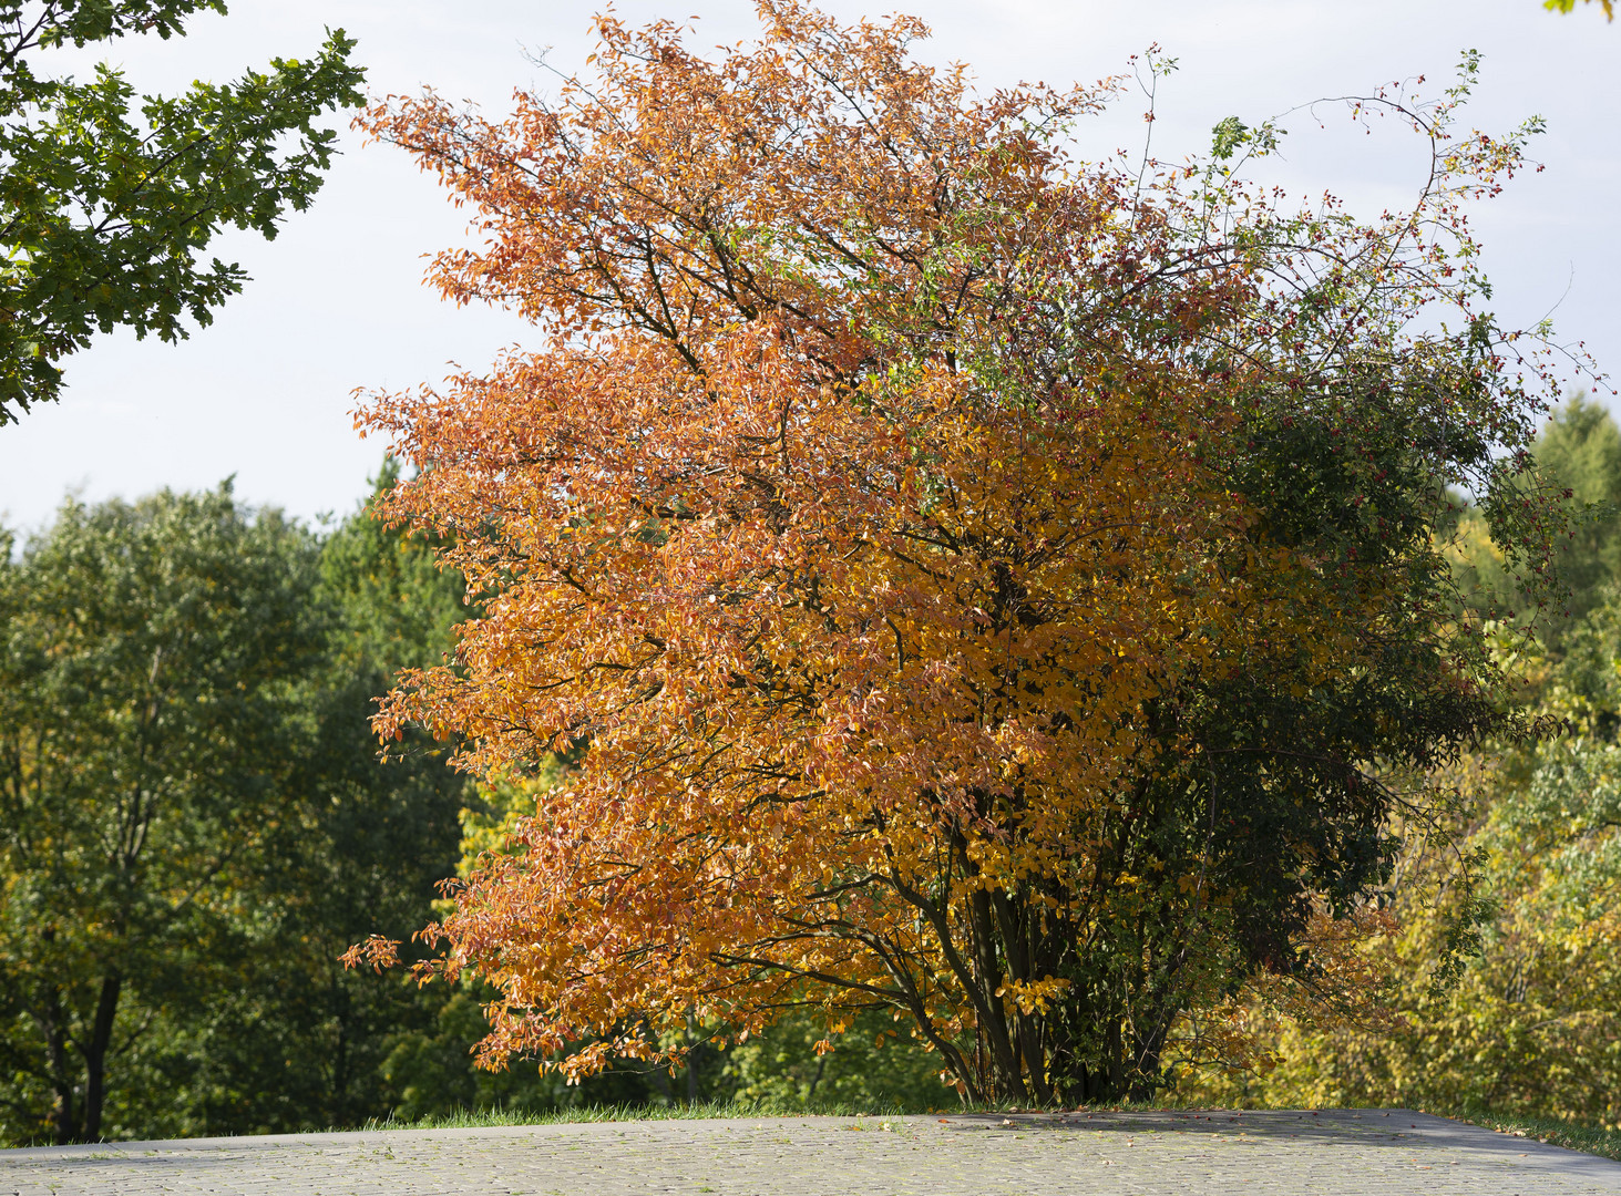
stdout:
{"type": "Polygon", "coordinates": [[[609,1121],[0,1151],[0,1196],[1545,1196],[1621,1164],[1407,1110],[609,1121]]]}

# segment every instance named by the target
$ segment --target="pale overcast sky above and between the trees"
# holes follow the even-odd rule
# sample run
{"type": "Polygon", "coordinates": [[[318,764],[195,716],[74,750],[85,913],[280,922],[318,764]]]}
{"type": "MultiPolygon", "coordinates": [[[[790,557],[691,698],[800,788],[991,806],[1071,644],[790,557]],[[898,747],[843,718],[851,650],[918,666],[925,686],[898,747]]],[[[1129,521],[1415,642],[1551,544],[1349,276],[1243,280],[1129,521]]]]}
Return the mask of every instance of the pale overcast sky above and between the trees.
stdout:
{"type": "MultiPolygon", "coordinates": [[[[825,5],[843,18],[875,11],[825,5]]],[[[183,39],[102,47],[143,92],[195,78],[222,81],[274,55],[303,57],[323,28],[358,39],[368,89],[433,86],[504,113],[514,88],[548,88],[528,55],[582,68],[590,6],[519,0],[232,0],[183,39]],[[110,50],[110,52],[109,52],[110,50]]],[[[1227,115],[1250,123],[1321,96],[1367,94],[1426,75],[1436,94],[1459,52],[1485,55],[1472,122],[1490,131],[1540,113],[1540,175],[1516,180],[1472,224],[1486,246],[1504,322],[1553,311],[1561,340],[1584,340],[1621,371],[1621,191],[1618,65],[1621,21],[1597,5],[1571,16],[1537,0],[913,0],[934,29],[921,57],[973,66],[984,89],[1018,79],[1094,81],[1151,42],[1178,60],[1162,84],[1154,152],[1180,157],[1209,143],[1227,115]]],[[[621,0],[640,23],[695,18],[694,44],[736,42],[755,28],[751,0],[621,0]]],[[[88,62],[73,68],[88,75],[88,62]]],[[[1078,130],[1088,156],[1140,149],[1143,104],[1078,130]]],[[[1297,193],[1336,191],[1375,214],[1407,201],[1423,175],[1422,146],[1391,123],[1352,133],[1334,107],[1284,122],[1281,178],[1297,193]]],[[[347,113],[342,120],[347,120],[347,113]]],[[[216,243],[253,280],[216,322],[180,345],[101,337],[66,363],[57,405],[0,428],[0,522],[34,530],[62,498],[204,488],[235,475],[237,491],[311,519],[344,514],[366,491],[384,446],[352,429],[353,391],[438,381],[447,363],[481,368],[524,344],[515,318],[457,310],[421,285],[423,254],[464,238],[465,214],[404,152],[344,135],[344,156],[311,211],[290,214],[276,241],[216,243]]]]}

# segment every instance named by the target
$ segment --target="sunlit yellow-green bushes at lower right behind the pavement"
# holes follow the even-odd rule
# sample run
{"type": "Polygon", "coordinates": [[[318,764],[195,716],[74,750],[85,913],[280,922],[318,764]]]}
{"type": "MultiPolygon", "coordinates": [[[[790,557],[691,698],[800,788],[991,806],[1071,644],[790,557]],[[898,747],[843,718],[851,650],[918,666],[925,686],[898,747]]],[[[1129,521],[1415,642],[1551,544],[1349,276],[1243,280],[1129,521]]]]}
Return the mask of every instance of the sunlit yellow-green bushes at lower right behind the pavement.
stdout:
{"type": "MultiPolygon", "coordinates": [[[[1488,780],[1496,804],[1467,839],[1488,852],[1485,895],[1496,916],[1482,953],[1449,992],[1435,992],[1456,895],[1435,896],[1441,857],[1412,862],[1397,899],[1399,933],[1370,951],[1399,979],[1404,1023],[1313,1032],[1277,1021],[1281,1057],[1264,1076],[1206,1079],[1211,1099],[1266,1105],[1409,1105],[1543,1113],[1615,1125],[1621,1117],[1621,959],[1616,831],[1621,749],[1553,744],[1529,784],[1488,780]],[[1430,883],[1426,883],[1430,882],[1430,883]],[[1426,891],[1428,890],[1428,891],[1426,891]]],[[[1485,804],[1485,802],[1483,802],[1485,804]]]]}

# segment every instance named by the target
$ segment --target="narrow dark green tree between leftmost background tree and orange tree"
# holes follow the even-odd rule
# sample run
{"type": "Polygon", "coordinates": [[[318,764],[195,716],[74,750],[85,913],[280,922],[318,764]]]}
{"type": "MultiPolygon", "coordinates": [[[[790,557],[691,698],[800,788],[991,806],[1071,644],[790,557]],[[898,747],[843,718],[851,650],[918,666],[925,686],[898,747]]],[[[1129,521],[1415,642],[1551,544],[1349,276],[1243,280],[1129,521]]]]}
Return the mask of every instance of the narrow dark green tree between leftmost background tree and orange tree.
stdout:
{"type": "MultiPolygon", "coordinates": [[[[396,480],[394,463],[384,463],[378,491],[396,480]]],[[[420,925],[434,885],[456,874],[465,778],[428,736],[379,758],[370,715],[399,669],[444,661],[467,613],[465,585],[441,572],[420,540],[378,520],[371,502],[326,536],[319,572],[313,598],[327,639],[300,713],[303,822],[277,841],[263,880],[280,917],[253,953],[253,1000],[217,1010],[212,1045],[193,1053],[214,1076],[251,1083],[224,1118],[230,1128],[387,1115],[404,1094],[384,1063],[402,1036],[436,1024],[446,1002],[402,979],[370,984],[339,956],[378,927],[420,925]],[[225,1057],[238,1061],[224,1068],[225,1057]]],[[[472,1071],[465,1045],[460,1068],[472,1071]]]]}

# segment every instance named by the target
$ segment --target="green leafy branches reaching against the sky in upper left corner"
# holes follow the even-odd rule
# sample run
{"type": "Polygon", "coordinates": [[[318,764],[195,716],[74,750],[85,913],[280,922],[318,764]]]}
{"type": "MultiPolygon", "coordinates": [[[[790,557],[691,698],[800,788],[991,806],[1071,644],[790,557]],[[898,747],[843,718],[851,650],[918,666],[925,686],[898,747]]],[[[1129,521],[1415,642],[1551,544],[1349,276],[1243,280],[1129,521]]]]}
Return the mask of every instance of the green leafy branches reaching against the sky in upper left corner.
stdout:
{"type": "Polygon", "coordinates": [[[117,326],[164,340],[206,326],[246,274],[198,254],[225,225],[274,238],[321,185],[360,104],[353,41],[272,58],[232,84],[143,96],[101,65],[89,81],[34,70],[37,50],[128,34],[173,37],[225,0],[0,0],[0,425],[62,389],[62,360],[117,326]]]}

